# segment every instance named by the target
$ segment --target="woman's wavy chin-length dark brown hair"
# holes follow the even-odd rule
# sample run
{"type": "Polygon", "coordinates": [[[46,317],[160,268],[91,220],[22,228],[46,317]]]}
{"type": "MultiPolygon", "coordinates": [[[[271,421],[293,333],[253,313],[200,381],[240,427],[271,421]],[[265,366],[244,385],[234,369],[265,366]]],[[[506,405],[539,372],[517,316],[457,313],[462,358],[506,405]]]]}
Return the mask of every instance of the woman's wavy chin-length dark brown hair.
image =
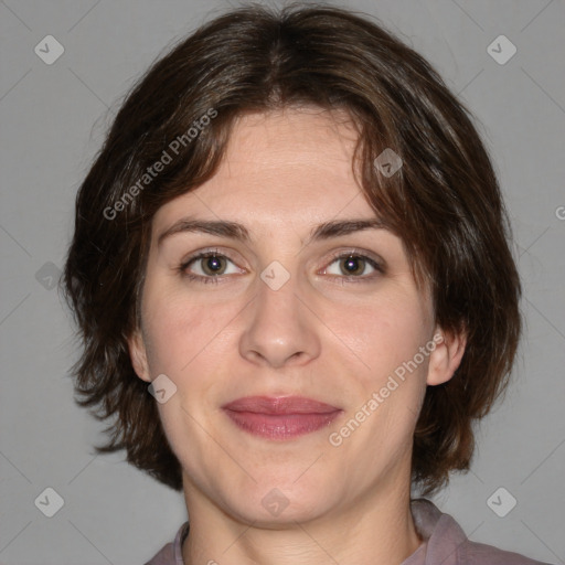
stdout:
{"type": "Polygon", "coordinates": [[[351,116],[367,201],[402,237],[418,284],[429,284],[436,322],[467,333],[454,377],[427,387],[414,435],[413,482],[433,493],[450,470],[469,468],[473,420],[508,384],[520,280],[471,114],[419,54],[351,11],[311,3],[230,11],[132,88],[76,200],[63,287],[82,345],[72,370],[77,403],[98,419],[113,417],[97,452],[125,448],[129,462],[182,489],[180,463],[127,344],[139,323],[151,221],[214,174],[237,117],[306,105],[351,116]],[[385,148],[403,160],[392,177],[374,164],[385,148]],[[158,161],[167,162],[149,174],[158,161]]]}

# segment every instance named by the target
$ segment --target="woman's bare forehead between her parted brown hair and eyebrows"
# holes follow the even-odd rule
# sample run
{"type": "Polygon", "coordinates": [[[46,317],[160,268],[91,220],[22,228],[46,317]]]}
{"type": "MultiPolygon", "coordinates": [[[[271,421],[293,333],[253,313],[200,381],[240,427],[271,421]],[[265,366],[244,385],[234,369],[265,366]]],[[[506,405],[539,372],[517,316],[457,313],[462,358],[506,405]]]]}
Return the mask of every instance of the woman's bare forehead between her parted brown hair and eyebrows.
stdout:
{"type": "Polygon", "coordinates": [[[271,227],[335,217],[374,217],[352,163],[358,132],[344,111],[285,108],[236,119],[215,174],[162,206],[180,215],[260,222],[271,227]]]}

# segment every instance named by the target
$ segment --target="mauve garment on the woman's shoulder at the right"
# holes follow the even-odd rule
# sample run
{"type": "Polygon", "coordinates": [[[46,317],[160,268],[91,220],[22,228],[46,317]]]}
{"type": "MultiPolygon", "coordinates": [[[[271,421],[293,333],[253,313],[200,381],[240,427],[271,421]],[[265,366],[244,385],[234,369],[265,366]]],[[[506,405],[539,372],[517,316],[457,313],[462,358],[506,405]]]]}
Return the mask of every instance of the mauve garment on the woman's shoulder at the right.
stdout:
{"type": "Polygon", "coordinates": [[[427,542],[426,563],[444,565],[551,565],[492,545],[472,542],[455,519],[431,501],[411,501],[416,530],[427,542]]]}

